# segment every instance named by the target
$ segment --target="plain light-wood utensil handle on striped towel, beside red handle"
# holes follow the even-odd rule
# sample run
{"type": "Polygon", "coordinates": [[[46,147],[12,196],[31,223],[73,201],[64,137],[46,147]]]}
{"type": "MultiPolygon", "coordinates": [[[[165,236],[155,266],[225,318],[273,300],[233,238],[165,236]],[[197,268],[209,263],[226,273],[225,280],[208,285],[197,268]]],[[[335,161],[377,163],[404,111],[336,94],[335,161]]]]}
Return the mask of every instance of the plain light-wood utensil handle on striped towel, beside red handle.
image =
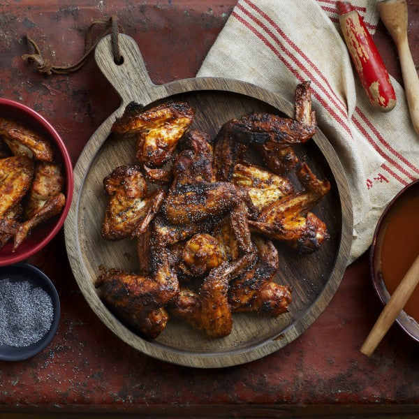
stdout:
{"type": "Polygon", "coordinates": [[[419,134],[419,78],[407,40],[406,0],[385,0],[377,3],[381,20],[395,41],[399,53],[407,103],[413,126],[419,134]]]}

